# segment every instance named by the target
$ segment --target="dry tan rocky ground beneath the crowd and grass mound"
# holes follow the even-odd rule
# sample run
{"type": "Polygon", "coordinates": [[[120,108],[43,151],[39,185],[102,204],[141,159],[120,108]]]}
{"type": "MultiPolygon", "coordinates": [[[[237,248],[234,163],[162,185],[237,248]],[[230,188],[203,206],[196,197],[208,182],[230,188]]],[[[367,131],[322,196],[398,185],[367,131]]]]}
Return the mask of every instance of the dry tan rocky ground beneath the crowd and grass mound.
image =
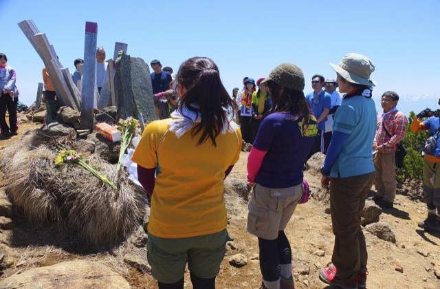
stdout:
{"type": "MultiPolygon", "coordinates": [[[[41,127],[21,118],[20,133],[41,127]]],[[[0,150],[20,138],[0,140],[0,150]]],[[[256,238],[245,231],[247,156],[242,153],[225,181],[233,241],[228,242],[217,288],[259,288],[261,282],[256,238]]],[[[293,247],[296,288],[327,288],[318,280],[318,269],[329,263],[333,249],[328,196],[319,186],[321,162],[316,156],[306,172],[314,198],[298,205],[286,229],[293,247]]],[[[4,182],[3,176],[0,180],[4,182]]],[[[142,227],[116,248],[88,250],[56,228],[35,226],[14,211],[0,190],[0,288],[157,288],[148,274],[151,268],[146,263],[142,227]]],[[[440,235],[417,228],[417,222],[426,217],[423,203],[397,195],[393,210],[381,213],[369,204],[364,217],[365,223],[373,222],[364,230],[369,249],[368,288],[440,288],[440,235]]],[[[192,288],[188,273],[186,288],[192,288]]]]}

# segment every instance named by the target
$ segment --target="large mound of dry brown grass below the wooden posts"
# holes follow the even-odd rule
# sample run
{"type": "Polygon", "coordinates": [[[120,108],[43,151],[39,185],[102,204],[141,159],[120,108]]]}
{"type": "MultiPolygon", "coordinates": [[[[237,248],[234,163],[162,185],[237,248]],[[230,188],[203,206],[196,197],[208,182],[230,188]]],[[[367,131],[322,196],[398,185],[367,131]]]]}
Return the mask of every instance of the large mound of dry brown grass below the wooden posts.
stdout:
{"type": "Polygon", "coordinates": [[[35,136],[8,148],[0,166],[11,200],[30,220],[57,223],[93,246],[111,246],[135,230],[146,213],[144,194],[115,166],[98,156],[87,159],[91,167],[118,183],[118,191],[82,167],[56,167],[56,151],[43,144],[33,147],[35,136]]]}

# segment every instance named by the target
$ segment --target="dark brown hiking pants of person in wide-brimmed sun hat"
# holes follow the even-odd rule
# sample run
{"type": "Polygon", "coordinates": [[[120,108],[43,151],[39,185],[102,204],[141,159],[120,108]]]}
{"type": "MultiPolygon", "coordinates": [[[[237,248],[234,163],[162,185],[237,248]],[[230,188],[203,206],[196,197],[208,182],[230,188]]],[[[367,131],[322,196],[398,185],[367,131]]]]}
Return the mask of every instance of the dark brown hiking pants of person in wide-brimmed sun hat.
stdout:
{"type": "Polygon", "coordinates": [[[338,268],[342,280],[358,276],[366,270],[368,255],[360,224],[362,208],[373,184],[373,173],[349,178],[332,178],[330,209],[335,246],[331,261],[338,268]]]}

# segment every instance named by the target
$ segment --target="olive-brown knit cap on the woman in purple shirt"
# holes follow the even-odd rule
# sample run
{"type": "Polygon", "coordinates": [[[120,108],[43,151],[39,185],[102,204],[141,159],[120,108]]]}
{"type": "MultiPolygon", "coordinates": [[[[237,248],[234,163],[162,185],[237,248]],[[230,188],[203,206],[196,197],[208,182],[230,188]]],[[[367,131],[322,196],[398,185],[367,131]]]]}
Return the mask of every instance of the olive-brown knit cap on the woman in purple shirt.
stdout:
{"type": "Polygon", "coordinates": [[[292,63],[281,63],[275,67],[269,76],[261,83],[267,83],[268,81],[273,81],[278,85],[300,92],[302,92],[305,87],[303,70],[292,63]]]}

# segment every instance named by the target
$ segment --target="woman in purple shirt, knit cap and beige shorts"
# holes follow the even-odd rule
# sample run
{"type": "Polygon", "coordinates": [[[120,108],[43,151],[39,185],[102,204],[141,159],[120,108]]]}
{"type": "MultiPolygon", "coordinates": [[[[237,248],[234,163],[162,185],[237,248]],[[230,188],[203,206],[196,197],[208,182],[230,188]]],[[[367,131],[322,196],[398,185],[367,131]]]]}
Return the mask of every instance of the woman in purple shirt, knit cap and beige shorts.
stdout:
{"type": "Polygon", "coordinates": [[[259,239],[263,288],[294,288],[292,252],[284,229],[303,200],[303,166],[318,127],[303,94],[299,67],[278,65],[265,83],[272,113],[261,122],[248,157],[248,181],[254,191],[247,230],[259,239]]]}

